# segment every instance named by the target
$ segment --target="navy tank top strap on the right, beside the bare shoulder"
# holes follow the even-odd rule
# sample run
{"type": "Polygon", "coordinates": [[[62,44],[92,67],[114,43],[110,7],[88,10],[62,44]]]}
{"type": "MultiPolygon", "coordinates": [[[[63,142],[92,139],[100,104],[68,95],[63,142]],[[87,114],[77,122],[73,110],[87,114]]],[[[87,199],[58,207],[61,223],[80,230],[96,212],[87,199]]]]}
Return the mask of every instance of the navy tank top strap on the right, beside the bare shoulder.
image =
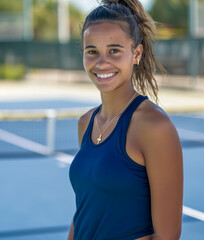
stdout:
{"type": "Polygon", "coordinates": [[[135,112],[135,110],[138,108],[138,106],[146,99],[148,99],[147,96],[143,96],[143,95],[137,96],[126,108],[125,112],[123,112],[120,126],[119,126],[120,129],[118,133],[120,135],[120,146],[124,151],[125,151],[125,145],[126,145],[127,130],[128,130],[132,115],[135,112]]]}

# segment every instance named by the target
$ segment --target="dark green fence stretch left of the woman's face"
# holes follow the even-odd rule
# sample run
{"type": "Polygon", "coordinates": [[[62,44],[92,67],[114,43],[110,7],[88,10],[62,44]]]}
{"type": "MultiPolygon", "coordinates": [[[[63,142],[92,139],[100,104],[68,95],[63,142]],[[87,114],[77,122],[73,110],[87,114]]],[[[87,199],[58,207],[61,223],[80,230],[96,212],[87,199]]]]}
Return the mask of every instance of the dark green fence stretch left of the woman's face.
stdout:
{"type": "Polygon", "coordinates": [[[50,42],[0,42],[0,64],[24,64],[27,68],[83,69],[81,46],[50,42]]]}

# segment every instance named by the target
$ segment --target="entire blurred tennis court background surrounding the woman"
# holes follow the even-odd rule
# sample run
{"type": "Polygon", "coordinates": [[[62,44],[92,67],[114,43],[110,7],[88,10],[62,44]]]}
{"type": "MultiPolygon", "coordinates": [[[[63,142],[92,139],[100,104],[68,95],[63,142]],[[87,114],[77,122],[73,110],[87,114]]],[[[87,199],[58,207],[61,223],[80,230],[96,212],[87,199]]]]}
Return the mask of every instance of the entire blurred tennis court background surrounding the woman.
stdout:
{"type": "MultiPolygon", "coordinates": [[[[159,105],[184,155],[182,240],[204,239],[204,0],[141,0],[155,20],[159,105]]],[[[80,28],[96,0],[0,0],[0,239],[67,238],[77,119],[100,103],[80,28]]]]}

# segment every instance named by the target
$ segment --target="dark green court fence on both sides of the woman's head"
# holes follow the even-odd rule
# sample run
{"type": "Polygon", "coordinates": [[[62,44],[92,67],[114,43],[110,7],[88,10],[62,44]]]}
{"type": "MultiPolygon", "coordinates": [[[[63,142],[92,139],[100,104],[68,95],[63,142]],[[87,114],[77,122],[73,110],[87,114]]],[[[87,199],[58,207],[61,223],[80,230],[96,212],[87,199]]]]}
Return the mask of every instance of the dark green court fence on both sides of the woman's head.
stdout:
{"type": "MultiPolygon", "coordinates": [[[[158,40],[154,52],[169,74],[204,76],[204,39],[158,40]]],[[[82,70],[81,43],[0,42],[0,64],[82,70]]]]}

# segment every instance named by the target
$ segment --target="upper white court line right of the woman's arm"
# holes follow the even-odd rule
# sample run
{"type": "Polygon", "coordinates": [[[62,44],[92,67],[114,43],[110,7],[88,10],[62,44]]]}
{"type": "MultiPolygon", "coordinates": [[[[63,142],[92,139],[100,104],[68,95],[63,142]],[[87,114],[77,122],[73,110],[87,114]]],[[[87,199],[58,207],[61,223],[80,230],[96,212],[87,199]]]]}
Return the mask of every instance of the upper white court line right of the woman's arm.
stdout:
{"type": "Polygon", "coordinates": [[[186,140],[204,141],[204,133],[188,130],[184,128],[177,128],[179,137],[186,140]]]}

